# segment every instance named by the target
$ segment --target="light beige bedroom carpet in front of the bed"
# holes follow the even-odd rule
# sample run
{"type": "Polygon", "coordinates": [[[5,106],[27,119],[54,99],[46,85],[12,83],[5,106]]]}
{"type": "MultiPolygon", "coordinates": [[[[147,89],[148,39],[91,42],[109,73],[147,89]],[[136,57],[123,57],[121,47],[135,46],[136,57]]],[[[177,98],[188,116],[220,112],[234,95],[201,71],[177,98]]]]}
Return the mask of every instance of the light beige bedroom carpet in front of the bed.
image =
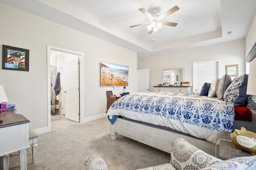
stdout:
{"type": "MultiPolygon", "coordinates": [[[[61,117],[52,118],[50,133],[39,135],[35,164],[28,149],[28,170],[83,170],[89,154],[102,156],[110,170],[137,170],[170,162],[170,154],[122,135],[111,140],[106,118],[75,123],[61,117]]],[[[19,156],[15,152],[10,155],[9,170],[18,169],[19,156]]]]}

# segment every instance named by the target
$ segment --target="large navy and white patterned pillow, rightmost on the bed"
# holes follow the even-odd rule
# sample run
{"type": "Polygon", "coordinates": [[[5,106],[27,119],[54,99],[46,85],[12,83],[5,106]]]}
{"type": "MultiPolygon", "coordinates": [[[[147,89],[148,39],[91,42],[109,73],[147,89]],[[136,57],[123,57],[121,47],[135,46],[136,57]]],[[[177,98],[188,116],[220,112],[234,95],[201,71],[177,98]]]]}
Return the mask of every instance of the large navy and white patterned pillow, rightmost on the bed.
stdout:
{"type": "Polygon", "coordinates": [[[248,74],[243,74],[239,77],[234,78],[231,84],[228,86],[223,98],[225,102],[233,103],[234,106],[242,106],[246,104],[248,94],[247,90],[248,74]]]}

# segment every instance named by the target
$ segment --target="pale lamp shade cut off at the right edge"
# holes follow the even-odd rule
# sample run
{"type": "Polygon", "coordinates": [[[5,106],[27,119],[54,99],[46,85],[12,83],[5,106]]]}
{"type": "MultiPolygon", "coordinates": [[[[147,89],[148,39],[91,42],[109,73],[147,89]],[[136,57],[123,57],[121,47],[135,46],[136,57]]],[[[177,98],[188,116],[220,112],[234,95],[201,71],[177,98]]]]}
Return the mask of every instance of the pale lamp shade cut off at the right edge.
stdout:
{"type": "Polygon", "coordinates": [[[256,60],[251,61],[249,64],[250,68],[246,94],[256,95],[256,60]]]}

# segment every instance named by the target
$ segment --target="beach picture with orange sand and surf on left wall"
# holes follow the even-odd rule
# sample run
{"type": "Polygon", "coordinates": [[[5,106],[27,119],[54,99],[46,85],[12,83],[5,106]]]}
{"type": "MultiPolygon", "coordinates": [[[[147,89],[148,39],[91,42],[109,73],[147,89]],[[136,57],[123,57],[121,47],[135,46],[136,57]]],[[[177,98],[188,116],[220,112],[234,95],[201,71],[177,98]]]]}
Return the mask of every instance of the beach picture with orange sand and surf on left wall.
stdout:
{"type": "Polygon", "coordinates": [[[100,63],[100,86],[128,86],[129,67],[107,62],[100,63]]]}

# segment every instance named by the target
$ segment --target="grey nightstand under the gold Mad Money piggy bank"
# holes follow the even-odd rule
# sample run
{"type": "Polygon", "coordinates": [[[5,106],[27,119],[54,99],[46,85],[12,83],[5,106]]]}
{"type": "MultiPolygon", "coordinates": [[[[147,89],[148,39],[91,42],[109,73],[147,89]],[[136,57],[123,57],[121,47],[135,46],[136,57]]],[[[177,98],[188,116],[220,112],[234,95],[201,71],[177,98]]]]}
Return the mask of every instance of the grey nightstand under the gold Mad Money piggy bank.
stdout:
{"type": "MultiPolygon", "coordinates": [[[[222,131],[220,139],[226,139],[231,141],[230,133],[222,131]]],[[[236,150],[232,142],[220,141],[220,152],[219,152],[220,159],[227,160],[227,159],[241,157],[241,156],[252,156],[252,155],[243,150],[236,150]]]]}

